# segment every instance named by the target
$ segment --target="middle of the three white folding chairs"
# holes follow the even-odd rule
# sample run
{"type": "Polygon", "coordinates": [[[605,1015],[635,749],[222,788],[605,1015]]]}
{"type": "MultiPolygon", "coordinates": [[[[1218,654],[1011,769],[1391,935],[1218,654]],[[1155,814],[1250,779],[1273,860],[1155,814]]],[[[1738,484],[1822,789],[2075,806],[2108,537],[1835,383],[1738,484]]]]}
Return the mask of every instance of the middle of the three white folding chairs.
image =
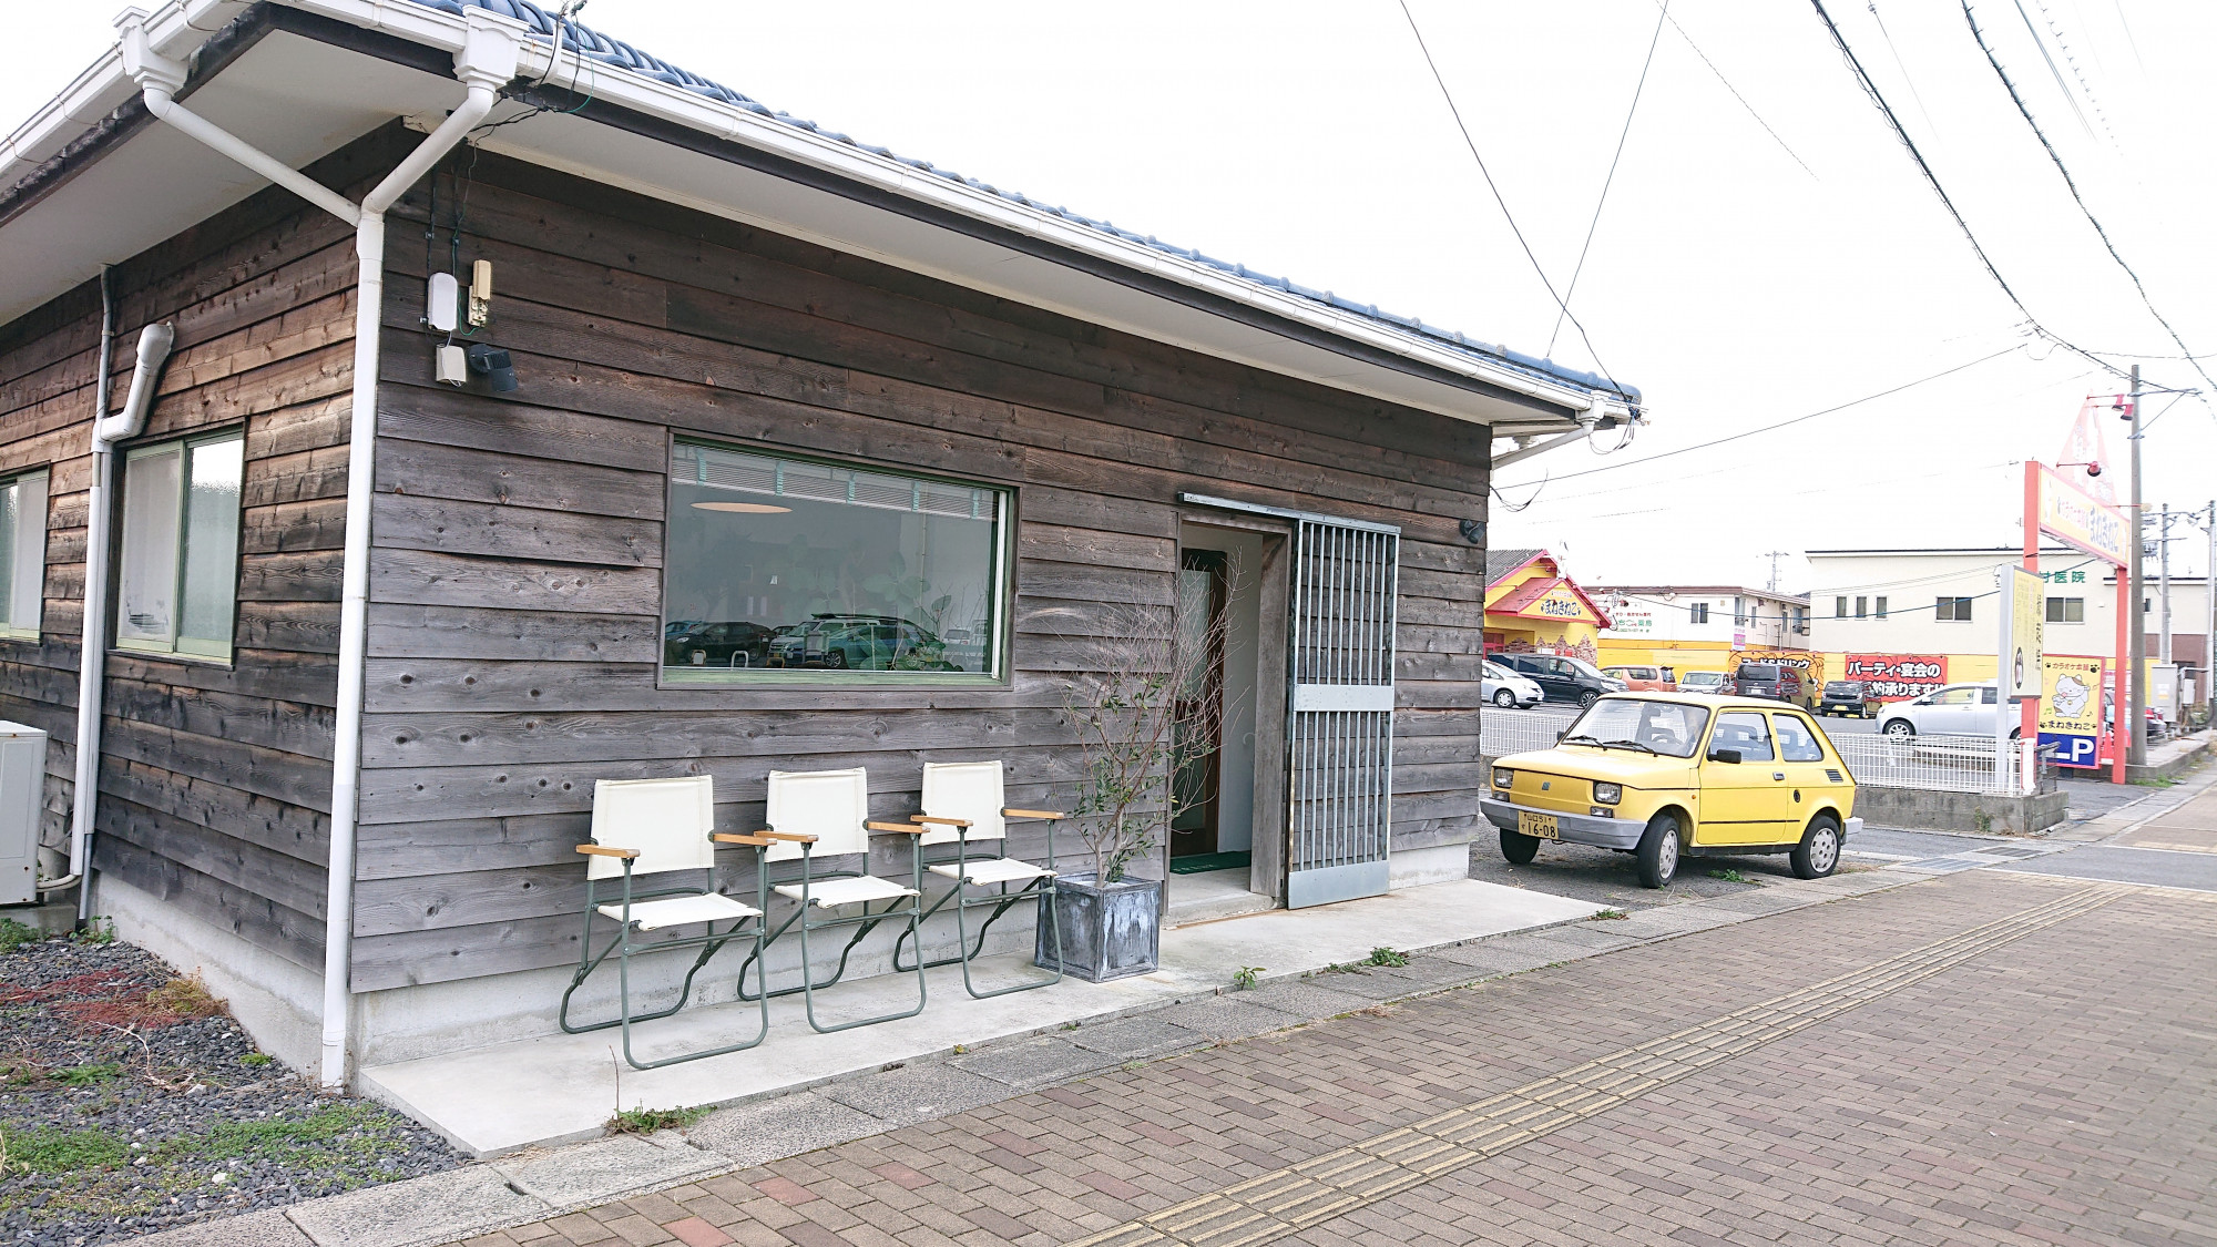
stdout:
{"type": "MultiPolygon", "coordinates": [[[[794,916],[785,919],[778,930],[769,932],[763,941],[765,947],[776,943],[791,927],[800,927],[800,987],[785,987],[780,992],[767,992],[763,983],[763,998],[783,996],[789,992],[800,992],[807,998],[809,1025],[818,1032],[849,1030],[871,1023],[889,1023],[900,1018],[913,1018],[924,1012],[924,972],[916,970],[916,1007],[885,1014],[876,1018],[856,1018],[836,1025],[823,1025],[816,1021],[816,990],[838,983],[847,972],[847,954],[854,945],[862,943],[878,923],[905,921],[909,936],[916,934],[916,923],[920,921],[920,901],[924,894],[924,859],[916,839],[922,834],[920,825],[913,823],[871,823],[869,821],[869,774],[862,768],[854,770],[772,770],[769,772],[769,828],[756,832],[765,841],[772,841],[769,852],[763,854],[763,870],[780,861],[800,861],[800,879],[789,883],[772,883],[769,888],[796,901],[800,908],[794,916]],[[911,852],[911,883],[900,885],[891,879],[878,879],[869,874],[869,832],[902,832],[909,839],[911,852]],[[829,856],[851,856],[860,854],[865,868],[860,872],[818,872],[816,861],[829,856]],[[871,905],[885,903],[882,910],[871,905]],[[838,916],[814,916],[823,912],[840,912],[838,916]],[[838,970],[831,979],[818,983],[816,972],[809,963],[809,934],[834,930],[834,927],[858,927],[847,947],[840,950],[838,970]]],[[[745,996],[747,972],[740,967],[740,996],[745,996]]]]}

